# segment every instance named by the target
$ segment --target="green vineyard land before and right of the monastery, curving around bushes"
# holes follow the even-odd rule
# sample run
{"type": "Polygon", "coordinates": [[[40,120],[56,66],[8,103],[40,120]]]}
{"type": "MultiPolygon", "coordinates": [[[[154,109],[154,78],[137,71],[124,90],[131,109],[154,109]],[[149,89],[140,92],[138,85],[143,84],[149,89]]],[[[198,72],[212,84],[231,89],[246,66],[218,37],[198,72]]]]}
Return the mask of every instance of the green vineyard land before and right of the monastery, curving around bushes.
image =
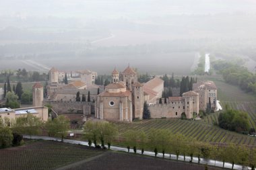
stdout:
{"type": "MultiPolygon", "coordinates": [[[[256,128],[256,96],[245,93],[234,85],[229,85],[222,81],[220,77],[199,77],[199,80],[212,80],[218,87],[218,100],[221,101],[222,107],[228,104],[236,110],[248,112],[251,127],[256,128]]],[[[234,142],[236,144],[256,145],[256,137],[247,136],[230,132],[214,126],[214,122],[218,122],[218,114],[210,114],[202,120],[190,121],[180,119],[158,119],[143,120],[141,122],[133,122],[132,124],[115,122],[121,133],[129,129],[144,130],[149,132],[150,128],[168,129],[172,133],[181,133],[185,136],[197,138],[203,142],[234,142]]]]}

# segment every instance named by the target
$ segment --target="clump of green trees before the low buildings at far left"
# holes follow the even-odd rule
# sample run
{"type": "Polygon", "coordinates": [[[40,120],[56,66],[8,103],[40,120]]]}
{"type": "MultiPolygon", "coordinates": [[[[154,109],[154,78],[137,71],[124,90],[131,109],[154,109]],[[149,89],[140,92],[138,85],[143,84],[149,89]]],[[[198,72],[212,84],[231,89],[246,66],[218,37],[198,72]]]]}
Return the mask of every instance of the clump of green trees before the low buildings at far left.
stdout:
{"type": "Polygon", "coordinates": [[[63,140],[67,136],[69,127],[70,122],[65,116],[58,116],[46,122],[42,122],[40,118],[32,114],[15,118],[15,120],[10,120],[7,117],[0,118],[0,148],[21,145],[24,142],[22,134],[32,136],[47,132],[49,136],[59,137],[63,140]]]}

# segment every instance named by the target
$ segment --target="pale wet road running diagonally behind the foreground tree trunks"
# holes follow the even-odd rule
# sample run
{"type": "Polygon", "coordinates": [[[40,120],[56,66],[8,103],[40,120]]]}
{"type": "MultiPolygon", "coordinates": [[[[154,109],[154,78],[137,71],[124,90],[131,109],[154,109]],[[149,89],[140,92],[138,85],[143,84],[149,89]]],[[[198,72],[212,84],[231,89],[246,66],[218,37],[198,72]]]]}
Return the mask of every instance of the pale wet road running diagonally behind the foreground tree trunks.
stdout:
{"type": "MultiPolygon", "coordinates": [[[[24,138],[30,138],[29,135],[23,135],[23,137],[24,138]]],[[[57,140],[57,141],[61,142],[61,138],[54,138],[54,137],[49,137],[49,136],[31,136],[31,138],[32,139],[43,139],[43,140],[57,140]]],[[[82,144],[82,145],[88,146],[88,142],[79,141],[79,140],[64,139],[63,142],[71,143],[71,144],[82,144]]],[[[92,144],[92,146],[94,146],[94,144],[92,144]]],[[[122,147],[118,147],[118,146],[111,146],[110,150],[128,152],[127,148],[122,148],[122,147]]],[[[132,148],[130,149],[130,153],[133,153],[132,148]]],[[[141,154],[141,151],[137,150],[137,154],[141,154]]],[[[155,153],[150,152],[150,151],[144,151],[143,155],[148,155],[148,156],[154,157],[155,153]]],[[[162,157],[162,153],[158,153],[157,157],[162,157]]],[[[176,157],[176,155],[165,154],[165,159],[174,159],[174,160],[176,160],[177,157],[176,157]]],[[[183,156],[179,156],[178,159],[179,159],[179,161],[184,161],[183,156]]],[[[190,157],[185,157],[185,161],[189,162],[190,160],[191,160],[190,157]]],[[[197,163],[197,162],[198,162],[197,157],[193,157],[193,163],[197,163]]],[[[205,165],[207,163],[208,165],[212,165],[212,166],[216,166],[216,167],[222,167],[222,165],[223,165],[222,161],[215,161],[215,160],[212,160],[212,159],[206,160],[206,159],[203,159],[203,158],[200,158],[200,163],[203,164],[203,165],[205,165]]],[[[231,163],[225,163],[224,167],[228,168],[228,169],[231,169],[232,164],[231,163]]],[[[241,165],[234,165],[234,169],[237,169],[237,170],[244,169],[245,170],[245,169],[251,169],[251,168],[249,168],[249,167],[244,167],[243,168],[241,165]]]]}

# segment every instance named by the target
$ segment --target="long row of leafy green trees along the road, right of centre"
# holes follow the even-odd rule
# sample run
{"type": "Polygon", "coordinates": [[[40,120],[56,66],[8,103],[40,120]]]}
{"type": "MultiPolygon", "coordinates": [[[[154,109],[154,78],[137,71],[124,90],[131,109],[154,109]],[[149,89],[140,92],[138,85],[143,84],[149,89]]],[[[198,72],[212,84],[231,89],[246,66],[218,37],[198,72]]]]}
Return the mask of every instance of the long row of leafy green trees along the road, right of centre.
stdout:
{"type": "MultiPolygon", "coordinates": [[[[143,130],[127,130],[119,133],[117,126],[110,122],[93,122],[88,121],[84,126],[84,138],[88,140],[89,146],[94,143],[96,148],[105,148],[105,144],[110,148],[113,142],[127,147],[127,151],[133,149],[137,153],[139,149],[141,154],[145,150],[154,151],[155,156],[162,153],[162,157],[168,154],[190,157],[203,157],[206,160],[214,159],[222,161],[223,167],[226,162],[250,166],[254,169],[256,165],[256,147],[244,146],[234,143],[228,144],[210,144],[209,142],[199,142],[195,138],[184,136],[183,134],[172,134],[165,129],[150,129],[146,134],[143,130]]],[[[170,155],[169,155],[170,156],[170,155]]]]}

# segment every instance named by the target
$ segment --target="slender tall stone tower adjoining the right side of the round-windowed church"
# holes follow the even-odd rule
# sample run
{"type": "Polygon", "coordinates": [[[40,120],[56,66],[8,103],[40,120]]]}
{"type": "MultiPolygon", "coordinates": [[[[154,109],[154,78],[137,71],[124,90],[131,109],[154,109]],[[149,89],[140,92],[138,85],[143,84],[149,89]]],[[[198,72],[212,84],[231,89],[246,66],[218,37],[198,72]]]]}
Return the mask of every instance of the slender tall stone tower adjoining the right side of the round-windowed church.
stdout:
{"type": "Polygon", "coordinates": [[[132,97],[133,97],[133,118],[142,119],[143,117],[143,85],[139,82],[132,85],[132,97]]]}

